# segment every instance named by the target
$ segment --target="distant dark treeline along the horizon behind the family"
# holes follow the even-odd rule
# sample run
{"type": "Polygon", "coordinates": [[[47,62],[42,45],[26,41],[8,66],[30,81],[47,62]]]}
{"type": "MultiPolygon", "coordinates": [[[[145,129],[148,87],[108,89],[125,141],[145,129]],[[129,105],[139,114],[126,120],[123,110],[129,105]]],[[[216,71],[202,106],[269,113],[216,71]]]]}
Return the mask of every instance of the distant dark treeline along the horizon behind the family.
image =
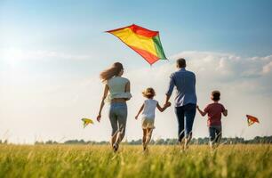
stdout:
{"type": "MultiPolygon", "coordinates": [[[[127,145],[140,145],[141,139],[139,140],[132,140],[130,142],[123,142],[123,144],[127,145]]],[[[177,144],[177,139],[158,139],[158,140],[151,140],[151,145],[174,145],[177,144]]],[[[202,145],[202,144],[208,144],[209,138],[193,138],[191,141],[191,144],[196,145],[202,145]]],[[[241,137],[235,137],[235,138],[222,138],[221,143],[223,144],[271,144],[272,143],[272,135],[271,136],[256,136],[255,138],[251,140],[244,140],[244,138],[241,137]]],[[[91,145],[106,145],[109,144],[109,142],[102,141],[102,142],[94,142],[94,141],[84,141],[84,140],[68,140],[66,142],[60,143],[55,141],[47,141],[47,142],[35,142],[35,144],[91,144],[91,145]]]]}

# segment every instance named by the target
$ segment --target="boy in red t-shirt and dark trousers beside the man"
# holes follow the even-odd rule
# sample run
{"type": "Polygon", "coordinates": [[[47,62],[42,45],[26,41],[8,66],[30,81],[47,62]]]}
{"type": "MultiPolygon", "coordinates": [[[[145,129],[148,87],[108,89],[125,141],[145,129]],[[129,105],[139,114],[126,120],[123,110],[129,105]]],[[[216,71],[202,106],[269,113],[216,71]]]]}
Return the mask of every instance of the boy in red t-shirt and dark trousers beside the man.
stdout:
{"type": "Polygon", "coordinates": [[[216,143],[217,146],[220,143],[221,135],[222,135],[222,127],[221,127],[221,113],[225,117],[228,116],[228,110],[224,108],[222,104],[219,103],[220,101],[220,91],[213,91],[211,99],[213,103],[208,104],[204,111],[199,109],[196,106],[196,109],[199,113],[204,117],[208,114],[208,127],[209,127],[209,134],[210,134],[210,146],[211,149],[213,148],[213,144],[216,143]]]}

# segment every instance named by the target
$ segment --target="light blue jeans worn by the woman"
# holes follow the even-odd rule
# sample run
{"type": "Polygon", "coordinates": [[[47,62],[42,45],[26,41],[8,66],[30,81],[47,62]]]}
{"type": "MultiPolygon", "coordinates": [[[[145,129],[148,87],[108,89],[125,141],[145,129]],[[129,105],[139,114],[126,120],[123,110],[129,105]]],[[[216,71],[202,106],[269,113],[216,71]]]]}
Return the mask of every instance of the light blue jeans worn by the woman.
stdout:
{"type": "Polygon", "coordinates": [[[112,102],[109,105],[108,117],[112,127],[111,135],[115,135],[118,132],[121,137],[125,134],[125,125],[127,118],[127,106],[125,102],[112,102]]]}

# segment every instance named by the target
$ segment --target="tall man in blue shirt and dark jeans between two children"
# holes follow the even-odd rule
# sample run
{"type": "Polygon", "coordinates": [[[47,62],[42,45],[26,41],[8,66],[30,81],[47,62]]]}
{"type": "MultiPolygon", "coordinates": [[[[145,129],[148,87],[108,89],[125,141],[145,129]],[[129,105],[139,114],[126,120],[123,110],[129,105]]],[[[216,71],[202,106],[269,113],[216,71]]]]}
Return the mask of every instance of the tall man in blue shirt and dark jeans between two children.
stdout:
{"type": "Polygon", "coordinates": [[[169,101],[173,88],[176,86],[175,113],[179,123],[179,142],[180,146],[184,146],[186,149],[192,138],[192,128],[196,116],[196,76],[193,72],[185,69],[186,61],[183,58],[177,60],[176,67],[178,71],[170,76],[165,103],[169,101]]]}

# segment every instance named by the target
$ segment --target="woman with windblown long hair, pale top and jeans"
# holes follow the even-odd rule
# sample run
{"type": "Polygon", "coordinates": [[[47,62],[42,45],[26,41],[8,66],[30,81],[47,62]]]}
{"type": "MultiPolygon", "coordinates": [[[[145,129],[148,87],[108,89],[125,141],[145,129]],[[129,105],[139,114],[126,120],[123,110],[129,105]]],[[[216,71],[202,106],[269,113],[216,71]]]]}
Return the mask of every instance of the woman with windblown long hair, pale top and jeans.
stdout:
{"type": "Polygon", "coordinates": [[[100,122],[101,111],[107,99],[110,103],[108,117],[112,127],[111,146],[114,151],[118,150],[119,143],[124,138],[127,118],[126,101],[132,98],[130,81],[122,77],[123,73],[124,68],[120,62],[114,63],[111,68],[100,73],[100,78],[105,83],[105,89],[97,120],[100,122]]]}

